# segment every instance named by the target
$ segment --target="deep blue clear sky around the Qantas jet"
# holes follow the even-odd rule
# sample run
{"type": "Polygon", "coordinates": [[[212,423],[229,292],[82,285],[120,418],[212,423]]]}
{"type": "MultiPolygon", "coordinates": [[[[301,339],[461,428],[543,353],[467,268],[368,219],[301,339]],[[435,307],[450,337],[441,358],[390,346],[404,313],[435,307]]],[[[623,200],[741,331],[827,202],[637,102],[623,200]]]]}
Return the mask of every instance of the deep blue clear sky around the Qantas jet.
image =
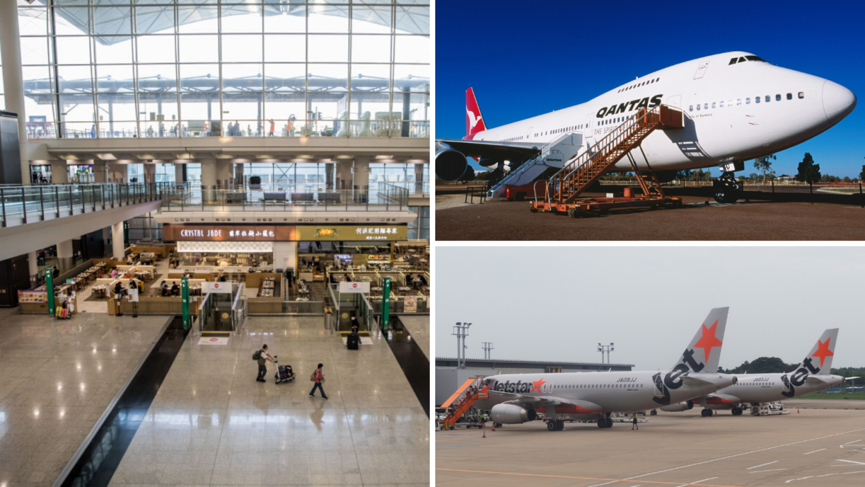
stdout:
{"type": "Polygon", "coordinates": [[[468,87],[498,126],[593,99],[629,76],[742,50],[859,99],[829,131],[779,152],[776,174],[796,174],[805,152],[823,174],[858,177],[865,164],[865,2],[437,0],[435,9],[437,138],[465,136],[468,87]]]}

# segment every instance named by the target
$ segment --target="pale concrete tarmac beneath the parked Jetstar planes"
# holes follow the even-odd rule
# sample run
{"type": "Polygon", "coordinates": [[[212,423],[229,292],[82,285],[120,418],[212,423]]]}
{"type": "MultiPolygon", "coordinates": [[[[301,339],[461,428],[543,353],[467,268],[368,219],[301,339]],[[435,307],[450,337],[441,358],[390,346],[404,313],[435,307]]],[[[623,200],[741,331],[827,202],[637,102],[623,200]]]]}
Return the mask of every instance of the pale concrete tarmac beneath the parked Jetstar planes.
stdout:
{"type": "MultiPolygon", "coordinates": [[[[865,411],[792,409],[779,416],[711,418],[700,407],[648,416],[639,430],[615,423],[541,421],[436,432],[438,485],[578,487],[860,486],[865,483],[865,411]]],[[[838,402],[826,400],[824,402],[838,402]]],[[[848,401],[844,401],[848,402],[848,401]]],[[[488,423],[489,426],[489,423],[488,423]]]]}

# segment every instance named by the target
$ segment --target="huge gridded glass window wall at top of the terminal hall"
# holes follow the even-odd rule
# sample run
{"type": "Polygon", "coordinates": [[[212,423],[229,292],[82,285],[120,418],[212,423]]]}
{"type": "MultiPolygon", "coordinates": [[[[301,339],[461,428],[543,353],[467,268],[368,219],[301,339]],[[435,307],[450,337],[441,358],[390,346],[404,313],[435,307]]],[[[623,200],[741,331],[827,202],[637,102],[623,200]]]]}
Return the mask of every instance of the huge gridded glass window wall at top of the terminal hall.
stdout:
{"type": "Polygon", "coordinates": [[[29,137],[429,137],[421,2],[22,2],[29,137]]]}

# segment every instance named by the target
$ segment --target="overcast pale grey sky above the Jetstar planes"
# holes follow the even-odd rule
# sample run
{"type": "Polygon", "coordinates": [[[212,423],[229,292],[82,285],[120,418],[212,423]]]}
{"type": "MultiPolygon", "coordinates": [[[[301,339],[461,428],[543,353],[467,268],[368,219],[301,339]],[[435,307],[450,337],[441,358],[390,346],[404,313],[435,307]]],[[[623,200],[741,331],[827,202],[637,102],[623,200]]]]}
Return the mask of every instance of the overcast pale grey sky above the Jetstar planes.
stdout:
{"type": "Polygon", "coordinates": [[[670,368],[713,307],[729,306],[721,367],[800,362],[838,327],[833,367],[865,366],[865,247],[437,247],[435,355],[670,368]],[[856,344],[859,344],[858,346],[856,344]]]}

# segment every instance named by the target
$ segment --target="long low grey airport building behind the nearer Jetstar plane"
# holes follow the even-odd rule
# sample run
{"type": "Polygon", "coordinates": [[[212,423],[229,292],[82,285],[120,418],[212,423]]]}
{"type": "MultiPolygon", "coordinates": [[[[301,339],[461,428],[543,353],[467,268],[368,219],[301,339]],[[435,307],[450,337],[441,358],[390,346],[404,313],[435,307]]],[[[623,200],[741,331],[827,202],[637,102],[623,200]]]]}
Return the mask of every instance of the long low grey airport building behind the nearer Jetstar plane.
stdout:
{"type": "Polygon", "coordinates": [[[632,363],[544,362],[477,358],[466,358],[465,368],[458,368],[458,359],[436,357],[435,403],[437,406],[444,403],[460,385],[468,379],[477,377],[477,375],[627,371],[633,368],[634,364],[632,363]]]}

